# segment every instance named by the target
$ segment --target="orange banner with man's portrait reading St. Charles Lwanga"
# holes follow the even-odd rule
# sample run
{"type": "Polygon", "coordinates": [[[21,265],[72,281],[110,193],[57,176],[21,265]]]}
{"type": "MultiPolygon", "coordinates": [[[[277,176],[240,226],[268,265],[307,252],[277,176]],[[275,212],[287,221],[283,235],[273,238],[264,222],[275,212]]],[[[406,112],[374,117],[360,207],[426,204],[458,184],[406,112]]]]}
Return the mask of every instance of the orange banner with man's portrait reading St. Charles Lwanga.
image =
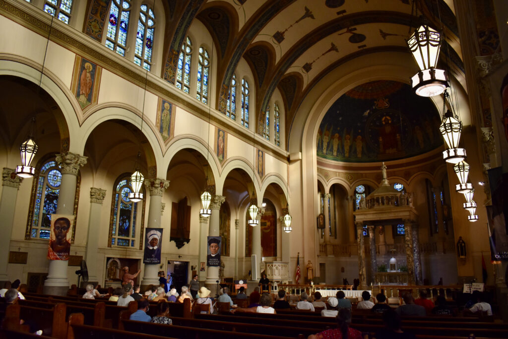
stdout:
{"type": "Polygon", "coordinates": [[[51,214],[49,260],[69,260],[74,215],[51,214]]]}

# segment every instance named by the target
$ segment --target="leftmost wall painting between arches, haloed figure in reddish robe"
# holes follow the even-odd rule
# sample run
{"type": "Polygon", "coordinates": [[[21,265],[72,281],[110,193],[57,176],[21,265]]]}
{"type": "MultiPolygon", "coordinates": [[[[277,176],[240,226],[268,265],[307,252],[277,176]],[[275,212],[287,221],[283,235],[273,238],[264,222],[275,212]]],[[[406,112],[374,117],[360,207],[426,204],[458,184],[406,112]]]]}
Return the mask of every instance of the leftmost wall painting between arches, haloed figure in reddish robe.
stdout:
{"type": "Polygon", "coordinates": [[[71,91],[78,100],[81,109],[97,105],[102,67],[79,55],[74,61],[71,91]]]}

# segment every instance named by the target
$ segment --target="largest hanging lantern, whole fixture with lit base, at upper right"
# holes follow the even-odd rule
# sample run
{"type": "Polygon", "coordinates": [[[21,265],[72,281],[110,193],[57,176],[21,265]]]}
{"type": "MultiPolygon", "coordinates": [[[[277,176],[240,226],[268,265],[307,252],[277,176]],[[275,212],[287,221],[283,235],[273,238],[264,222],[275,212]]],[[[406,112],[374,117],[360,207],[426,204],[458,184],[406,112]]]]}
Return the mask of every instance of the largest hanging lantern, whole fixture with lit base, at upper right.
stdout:
{"type": "Polygon", "coordinates": [[[439,32],[426,25],[418,27],[407,40],[407,46],[420,68],[420,71],[411,77],[411,85],[419,96],[440,95],[448,86],[446,72],[435,68],[440,44],[439,32]]]}

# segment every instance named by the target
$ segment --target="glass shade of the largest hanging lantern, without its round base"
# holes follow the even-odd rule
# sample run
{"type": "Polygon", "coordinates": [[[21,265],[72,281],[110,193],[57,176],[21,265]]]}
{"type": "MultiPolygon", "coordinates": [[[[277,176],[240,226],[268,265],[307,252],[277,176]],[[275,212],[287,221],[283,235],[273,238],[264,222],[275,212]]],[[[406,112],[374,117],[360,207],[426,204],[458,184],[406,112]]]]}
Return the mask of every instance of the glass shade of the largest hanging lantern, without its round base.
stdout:
{"type": "Polygon", "coordinates": [[[411,50],[420,70],[434,68],[436,67],[441,47],[441,34],[429,26],[421,25],[409,37],[407,46],[411,50]]]}

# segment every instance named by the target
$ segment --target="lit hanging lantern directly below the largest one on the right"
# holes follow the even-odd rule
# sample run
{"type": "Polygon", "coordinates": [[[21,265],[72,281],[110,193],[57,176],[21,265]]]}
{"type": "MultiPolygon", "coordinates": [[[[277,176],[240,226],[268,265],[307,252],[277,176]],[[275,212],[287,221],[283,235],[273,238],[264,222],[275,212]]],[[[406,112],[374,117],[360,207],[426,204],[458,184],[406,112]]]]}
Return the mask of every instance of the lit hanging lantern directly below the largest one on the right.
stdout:
{"type": "Polygon", "coordinates": [[[448,149],[443,151],[443,159],[447,163],[457,164],[466,157],[466,150],[458,148],[460,134],[462,132],[462,122],[457,120],[451,110],[443,114],[443,120],[439,126],[439,131],[446,142],[448,149]]]}

